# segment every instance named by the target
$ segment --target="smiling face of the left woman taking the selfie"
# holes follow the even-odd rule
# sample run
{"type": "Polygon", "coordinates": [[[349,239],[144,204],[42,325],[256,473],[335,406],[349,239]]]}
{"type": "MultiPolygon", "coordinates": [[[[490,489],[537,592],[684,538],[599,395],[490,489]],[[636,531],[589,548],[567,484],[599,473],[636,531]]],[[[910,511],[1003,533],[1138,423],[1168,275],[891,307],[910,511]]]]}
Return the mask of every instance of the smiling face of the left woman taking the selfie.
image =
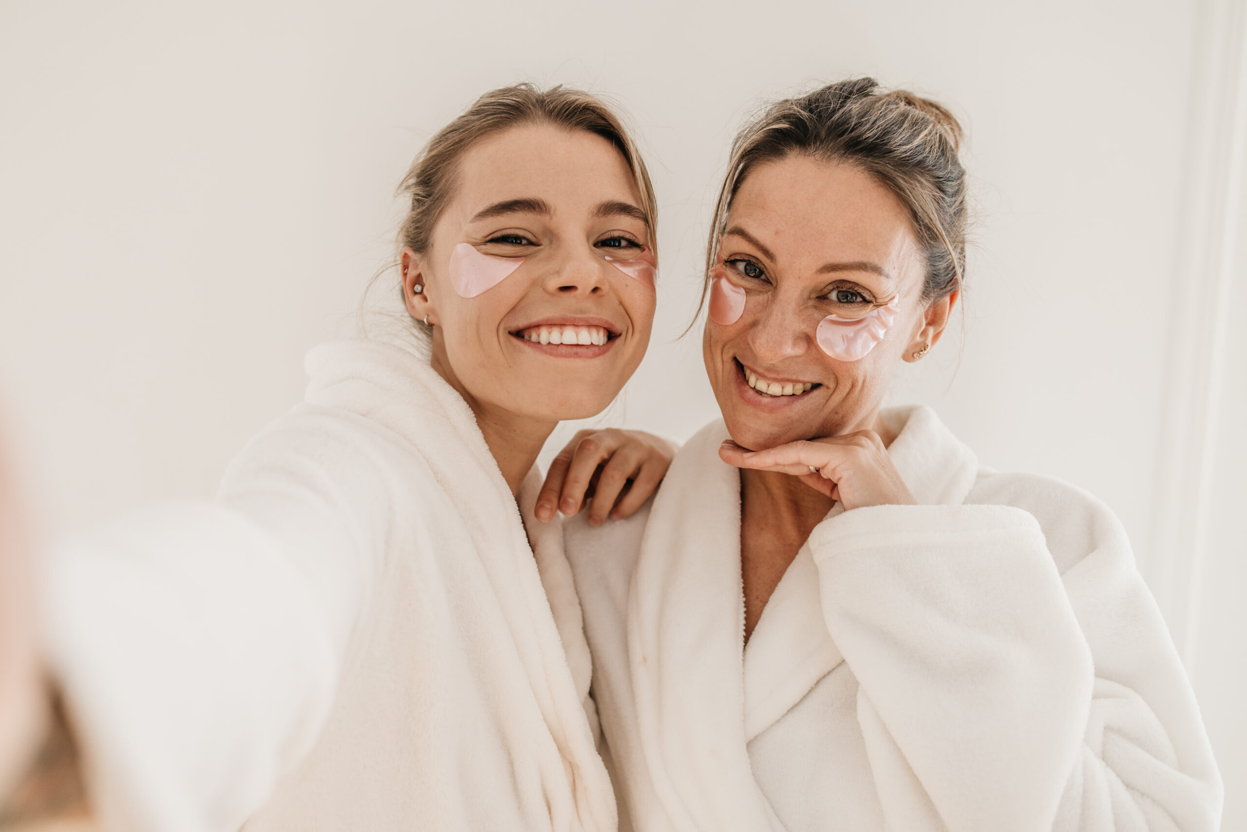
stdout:
{"type": "Polygon", "coordinates": [[[434,367],[478,413],[579,419],[605,409],[645,356],[651,252],[619,151],[529,125],[464,153],[429,251],[403,252],[404,293],[433,326],[434,367]]]}

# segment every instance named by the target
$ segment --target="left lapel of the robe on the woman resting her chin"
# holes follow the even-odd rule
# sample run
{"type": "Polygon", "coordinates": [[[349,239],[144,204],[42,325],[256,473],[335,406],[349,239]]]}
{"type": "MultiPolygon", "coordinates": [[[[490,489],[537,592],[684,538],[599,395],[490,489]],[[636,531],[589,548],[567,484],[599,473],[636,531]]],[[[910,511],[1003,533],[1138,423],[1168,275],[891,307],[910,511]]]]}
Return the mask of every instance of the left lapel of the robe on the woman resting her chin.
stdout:
{"type": "Polygon", "coordinates": [[[741,485],[722,422],[676,457],[650,513],[628,597],[641,747],[677,830],[779,830],[744,737],[741,485]]]}

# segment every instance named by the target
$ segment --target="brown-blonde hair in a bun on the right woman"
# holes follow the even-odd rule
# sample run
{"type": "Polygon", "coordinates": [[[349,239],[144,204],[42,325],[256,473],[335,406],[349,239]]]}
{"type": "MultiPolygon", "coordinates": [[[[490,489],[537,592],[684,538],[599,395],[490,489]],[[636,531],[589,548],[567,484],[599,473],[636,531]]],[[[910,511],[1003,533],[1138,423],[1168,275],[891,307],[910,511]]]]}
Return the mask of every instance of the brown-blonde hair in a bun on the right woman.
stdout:
{"type": "Polygon", "coordinates": [[[923,301],[941,298],[965,277],[965,168],[961,126],[946,109],[874,79],[829,84],[767,106],[737,133],[715,205],[701,306],[717,264],[732,200],[758,165],[802,153],[854,165],[892,190],[909,215],[927,258],[923,301]]]}

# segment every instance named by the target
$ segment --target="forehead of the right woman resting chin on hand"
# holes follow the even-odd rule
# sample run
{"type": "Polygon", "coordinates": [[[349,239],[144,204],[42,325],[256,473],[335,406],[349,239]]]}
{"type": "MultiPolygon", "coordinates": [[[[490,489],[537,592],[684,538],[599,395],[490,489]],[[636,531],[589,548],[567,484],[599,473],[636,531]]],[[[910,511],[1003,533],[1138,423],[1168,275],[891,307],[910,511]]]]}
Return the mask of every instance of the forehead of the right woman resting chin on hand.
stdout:
{"type": "Polygon", "coordinates": [[[732,201],[733,226],[794,267],[832,261],[899,267],[918,251],[909,212],[888,187],[852,165],[807,156],[753,168],[732,201]]]}

